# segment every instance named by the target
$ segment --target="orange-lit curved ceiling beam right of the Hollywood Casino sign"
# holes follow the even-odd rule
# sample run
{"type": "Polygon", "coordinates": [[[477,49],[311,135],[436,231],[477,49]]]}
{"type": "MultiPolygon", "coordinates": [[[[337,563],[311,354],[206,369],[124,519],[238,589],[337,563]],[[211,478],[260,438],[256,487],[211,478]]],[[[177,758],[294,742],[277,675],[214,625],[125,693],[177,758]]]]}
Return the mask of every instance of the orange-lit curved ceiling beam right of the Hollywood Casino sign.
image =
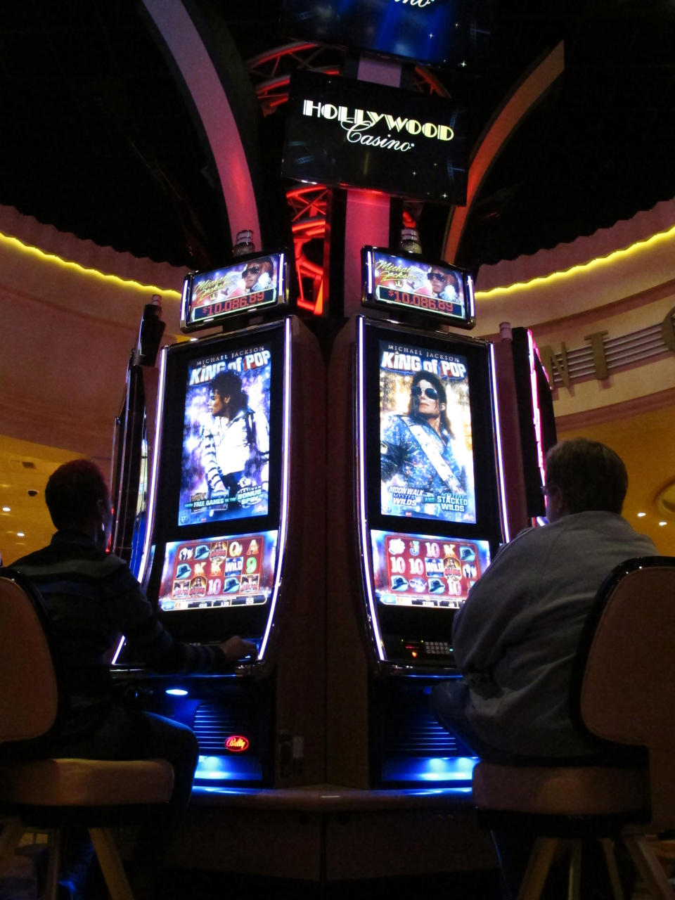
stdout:
{"type": "Polygon", "coordinates": [[[473,151],[466,192],[466,204],[450,211],[443,241],[443,258],[452,263],[457,256],[464,226],[482,183],[510,135],[528,112],[541,100],[556,78],[563,74],[564,46],[561,41],[519,85],[504,98],[491,123],[473,151]]]}

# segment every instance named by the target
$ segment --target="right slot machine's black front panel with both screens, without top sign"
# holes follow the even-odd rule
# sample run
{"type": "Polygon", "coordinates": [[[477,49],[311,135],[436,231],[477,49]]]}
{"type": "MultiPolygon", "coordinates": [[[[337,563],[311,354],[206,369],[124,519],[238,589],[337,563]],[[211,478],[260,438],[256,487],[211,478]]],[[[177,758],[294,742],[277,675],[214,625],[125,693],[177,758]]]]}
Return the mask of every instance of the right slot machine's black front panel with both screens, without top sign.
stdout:
{"type": "Polygon", "coordinates": [[[411,641],[440,642],[447,662],[455,612],[502,540],[491,347],[365,318],[361,329],[356,502],[376,652],[408,664],[411,641]]]}

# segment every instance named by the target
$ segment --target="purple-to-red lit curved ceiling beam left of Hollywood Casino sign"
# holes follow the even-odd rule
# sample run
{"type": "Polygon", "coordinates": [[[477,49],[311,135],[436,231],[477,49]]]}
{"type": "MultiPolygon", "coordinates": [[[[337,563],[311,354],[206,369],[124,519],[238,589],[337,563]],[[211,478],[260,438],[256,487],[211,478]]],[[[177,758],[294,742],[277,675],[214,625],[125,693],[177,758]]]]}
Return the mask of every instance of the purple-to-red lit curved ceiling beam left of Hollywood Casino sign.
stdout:
{"type": "MultiPolygon", "coordinates": [[[[225,74],[220,67],[216,69],[198,25],[181,0],[143,0],[143,5],[173,58],[202,123],[219,177],[230,234],[234,240],[238,231],[253,229],[255,245],[260,249],[260,216],[249,158],[255,150],[245,144],[248,128],[239,121],[239,111],[229,102],[223,84],[225,74]]],[[[246,67],[240,68],[247,81],[246,67]]]]}

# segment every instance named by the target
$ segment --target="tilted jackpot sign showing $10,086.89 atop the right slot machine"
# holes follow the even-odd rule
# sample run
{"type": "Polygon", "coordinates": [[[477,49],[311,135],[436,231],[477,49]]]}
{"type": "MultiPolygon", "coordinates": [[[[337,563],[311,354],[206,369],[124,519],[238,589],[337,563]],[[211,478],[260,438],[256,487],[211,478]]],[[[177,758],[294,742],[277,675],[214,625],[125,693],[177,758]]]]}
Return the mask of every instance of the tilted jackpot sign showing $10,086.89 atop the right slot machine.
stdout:
{"type": "Polygon", "coordinates": [[[455,328],[476,324],[473,278],[464,269],[380,247],[363,247],[361,260],[365,305],[419,311],[455,328]]]}

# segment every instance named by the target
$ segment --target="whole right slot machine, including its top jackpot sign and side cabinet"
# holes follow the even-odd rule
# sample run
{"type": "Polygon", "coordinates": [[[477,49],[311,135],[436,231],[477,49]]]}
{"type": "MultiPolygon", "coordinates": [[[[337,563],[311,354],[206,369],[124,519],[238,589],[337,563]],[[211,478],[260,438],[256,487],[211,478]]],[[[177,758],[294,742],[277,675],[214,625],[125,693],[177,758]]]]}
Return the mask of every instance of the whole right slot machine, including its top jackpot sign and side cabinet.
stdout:
{"type": "Polygon", "coordinates": [[[493,347],[449,330],[473,327],[469,273],[362,256],[365,309],[329,365],[329,781],[466,786],[475,761],[429,693],[457,676],[453,617],[508,530],[493,347]]]}

